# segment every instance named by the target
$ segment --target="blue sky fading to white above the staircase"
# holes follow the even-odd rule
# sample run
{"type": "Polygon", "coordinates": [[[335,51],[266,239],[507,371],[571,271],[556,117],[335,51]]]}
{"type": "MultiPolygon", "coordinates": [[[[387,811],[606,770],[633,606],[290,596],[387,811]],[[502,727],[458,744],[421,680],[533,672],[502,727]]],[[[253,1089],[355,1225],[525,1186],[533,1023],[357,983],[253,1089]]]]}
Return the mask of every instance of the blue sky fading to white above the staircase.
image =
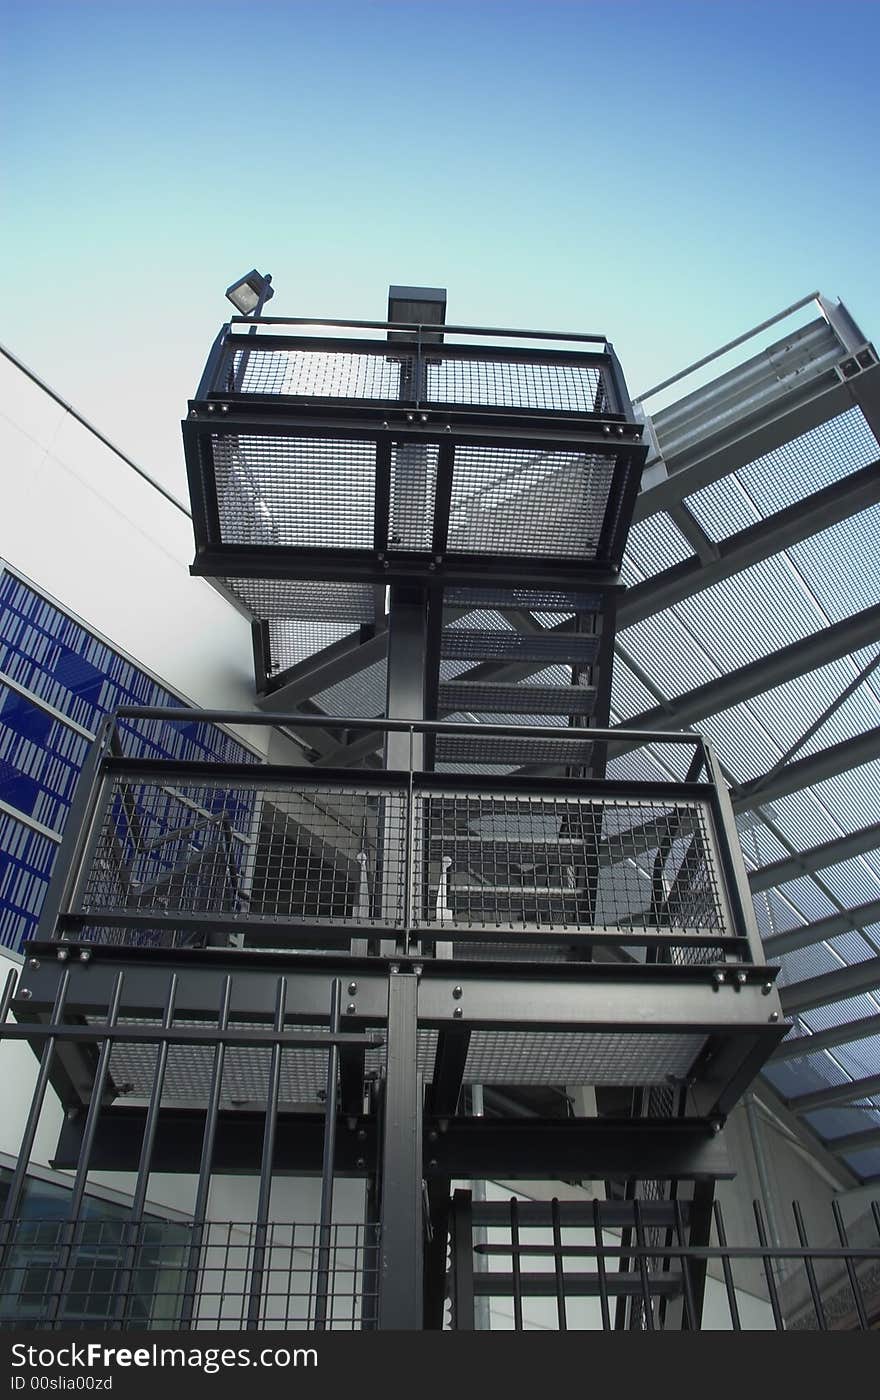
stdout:
{"type": "Polygon", "coordinates": [[[252,266],[277,314],[427,283],[450,321],[603,332],[634,393],[816,288],[880,343],[877,0],[0,0],[0,340],[180,496],[252,266]]]}

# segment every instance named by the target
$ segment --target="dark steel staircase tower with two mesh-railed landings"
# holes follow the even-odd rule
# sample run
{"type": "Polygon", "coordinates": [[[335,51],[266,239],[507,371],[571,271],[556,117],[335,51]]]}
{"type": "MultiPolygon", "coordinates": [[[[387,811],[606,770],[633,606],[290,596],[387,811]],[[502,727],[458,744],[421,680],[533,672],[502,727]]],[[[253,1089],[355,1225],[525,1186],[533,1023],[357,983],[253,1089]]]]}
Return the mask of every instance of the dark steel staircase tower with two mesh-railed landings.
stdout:
{"type": "MultiPolygon", "coordinates": [[[[543,1179],[604,1182],[596,1228],[642,1247],[616,1326],[698,1327],[705,1266],[645,1242],[707,1238],[725,1117],[786,1028],[711,749],[627,734],[642,767],[607,776],[642,424],[603,336],[392,298],[403,321],[235,318],[189,403],[193,573],[253,619],[260,710],[120,711],[99,736],[13,1001],[35,1043],[85,1032],[49,1054],[57,1161],[134,1172],[133,1231],[151,1170],[197,1173],[182,1326],[204,1317],[211,1177],[235,1170],[260,1183],[242,1326],[278,1316],[273,1180],[320,1175],[309,1326],[332,1324],[353,1176],[376,1231],[354,1326],[441,1327],[448,1299],[473,1326],[494,1217],[450,1184],[543,1179]],[[329,708],[353,676],[362,711],[329,708]],[[126,752],[139,727],[232,720],[312,762],[126,752]]],[[[607,1310],[606,1284],[576,1291],[607,1310]]],[[[543,1287],[509,1278],[519,1305],[543,1287]]]]}

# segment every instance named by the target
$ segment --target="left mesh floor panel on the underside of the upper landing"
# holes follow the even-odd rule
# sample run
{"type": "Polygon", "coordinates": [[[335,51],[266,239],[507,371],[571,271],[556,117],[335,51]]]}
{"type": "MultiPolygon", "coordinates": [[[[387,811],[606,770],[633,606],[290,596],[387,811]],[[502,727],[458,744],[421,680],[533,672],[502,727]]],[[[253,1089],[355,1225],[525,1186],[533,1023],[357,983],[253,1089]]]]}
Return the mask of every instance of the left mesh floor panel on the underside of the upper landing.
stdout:
{"type": "Polygon", "coordinates": [[[214,434],[224,545],[369,549],[375,444],[214,434]]]}

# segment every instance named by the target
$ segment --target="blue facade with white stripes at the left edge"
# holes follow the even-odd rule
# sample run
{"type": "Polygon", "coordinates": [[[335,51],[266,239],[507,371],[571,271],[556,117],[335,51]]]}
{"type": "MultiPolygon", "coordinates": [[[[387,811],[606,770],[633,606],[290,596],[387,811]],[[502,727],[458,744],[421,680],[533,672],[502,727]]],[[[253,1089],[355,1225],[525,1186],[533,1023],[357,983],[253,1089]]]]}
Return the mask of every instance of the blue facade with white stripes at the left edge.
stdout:
{"type": "MultiPolygon", "coordinates": [[[[0,673],[34,700],[0,682],[0,946],[32,938],[57,843],[15,818],[21,813],[59,836],[90,741],[60,715],[94,734],[118,706],[175,706],[158,685],[106,643],[10,573],[0,573],[0,673]]],[[[152,720],[120,725],[132,757],[256,763],[256,756],[210,724],[152,720]]],[[[249,808],[227,813],[246,826],[249,808]]]]}

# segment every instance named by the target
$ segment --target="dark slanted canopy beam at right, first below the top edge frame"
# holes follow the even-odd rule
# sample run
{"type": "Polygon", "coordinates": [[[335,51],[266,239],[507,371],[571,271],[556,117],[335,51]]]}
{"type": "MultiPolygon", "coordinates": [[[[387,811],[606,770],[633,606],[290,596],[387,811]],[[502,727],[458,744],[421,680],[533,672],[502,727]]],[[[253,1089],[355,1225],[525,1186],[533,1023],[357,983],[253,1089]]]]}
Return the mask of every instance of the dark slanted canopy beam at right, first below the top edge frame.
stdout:
{"type": "Polygon", "coordinates": [[[880,500],[880,462],[872,462],[841,482],[814,491],[802,501],[775,511],[767,519],[737,531],[718,545],[718,559],[701,563],[687,559],[646,578],[624,595],[617,626],[623,631],[645,617],[730,578],[750,564],[778,554],[830,525],[867,510],[880,500]]]}

